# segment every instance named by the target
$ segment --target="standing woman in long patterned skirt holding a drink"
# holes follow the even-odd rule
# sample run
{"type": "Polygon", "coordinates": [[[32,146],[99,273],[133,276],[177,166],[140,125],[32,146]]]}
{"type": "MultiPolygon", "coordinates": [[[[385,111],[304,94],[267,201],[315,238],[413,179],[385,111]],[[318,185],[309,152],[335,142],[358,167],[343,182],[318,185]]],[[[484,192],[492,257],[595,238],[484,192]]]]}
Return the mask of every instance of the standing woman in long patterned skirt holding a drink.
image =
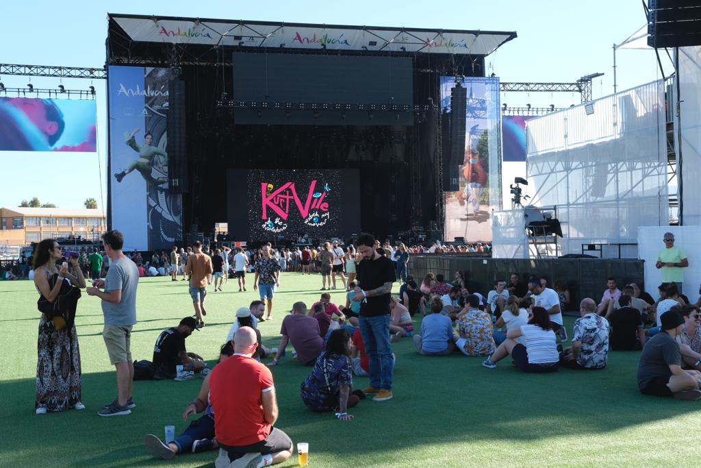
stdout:
{"type": "MultiPolygon", "coordinates": [[[[34,252],[34,285],[48,302],[56,300],[64,281],[70,281],[79,288],[86,286],[77,258],[70,259],[72,273],[69,273],[68,265],[57,267],[56,262],[62,256],[61,248],[54,239],[44,239],[34,252]],[[58,276],[52,287],[54,274],[58,276]]],[[[81,354],[75,324],[57,330],[54,321],[41,314],[37,354],[36,414],[70,408],[85,409],[81,403],[81,354]]]]}

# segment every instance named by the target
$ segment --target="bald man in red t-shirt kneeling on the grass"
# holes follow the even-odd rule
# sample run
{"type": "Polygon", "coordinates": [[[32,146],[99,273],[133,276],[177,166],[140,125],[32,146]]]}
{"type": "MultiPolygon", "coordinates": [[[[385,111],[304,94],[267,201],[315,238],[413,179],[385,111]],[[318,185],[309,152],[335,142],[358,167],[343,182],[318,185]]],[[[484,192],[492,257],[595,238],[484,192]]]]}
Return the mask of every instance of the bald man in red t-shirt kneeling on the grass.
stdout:
{"type": "Polygon", "coordinates": [[[215,467],[284,462],[292,455],[292,440],[273,427],[278,420],[273,374],[251,357],[258,345],[256,333],[241,327],[232,342],[233,356],[210,373],[210,401],[220,446],[215,467]]]}

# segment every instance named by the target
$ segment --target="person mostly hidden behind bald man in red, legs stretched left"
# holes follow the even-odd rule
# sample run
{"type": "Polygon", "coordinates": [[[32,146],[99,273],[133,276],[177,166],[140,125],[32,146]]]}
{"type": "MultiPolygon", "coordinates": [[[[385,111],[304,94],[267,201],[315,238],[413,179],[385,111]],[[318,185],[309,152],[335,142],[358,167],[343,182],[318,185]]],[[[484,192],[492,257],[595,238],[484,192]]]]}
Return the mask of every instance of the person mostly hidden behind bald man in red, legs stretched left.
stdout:
{"type": "MultiPolygon", "coordinates": [[[[229,359],[233,354],[233,345],[227,342],[219,351],[219,362],[222,363],[229,359]]],[[[154,434],[147,434],[144,437],[144,443],[154,455],[158,455],[163,460],[171,460],[172,457],[179,453],[200,453],[206,450],[219,448],[219,443],[215,439],[215,414],[212,411],[210,401],[210,375],[205,377],[200,393],[197,398],[188,403],[185,407],[185,412],[182,413],[182,420],[186,421],[189,415],[195,413],[205,414],[200,419],[190,423],[185,432],[175,438],[170,443],[164,443],[154,434]]]]}

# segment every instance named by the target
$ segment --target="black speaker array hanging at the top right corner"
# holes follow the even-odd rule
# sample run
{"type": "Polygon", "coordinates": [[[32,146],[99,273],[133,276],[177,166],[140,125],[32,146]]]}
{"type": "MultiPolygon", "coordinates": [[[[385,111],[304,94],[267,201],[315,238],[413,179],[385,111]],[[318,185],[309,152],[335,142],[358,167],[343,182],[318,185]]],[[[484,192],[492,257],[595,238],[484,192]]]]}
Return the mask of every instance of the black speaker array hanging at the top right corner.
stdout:
{"type": "Polygon", "coordinates": [[[648,46],[701,46],[701,0],[648,0],[648,46]]]}

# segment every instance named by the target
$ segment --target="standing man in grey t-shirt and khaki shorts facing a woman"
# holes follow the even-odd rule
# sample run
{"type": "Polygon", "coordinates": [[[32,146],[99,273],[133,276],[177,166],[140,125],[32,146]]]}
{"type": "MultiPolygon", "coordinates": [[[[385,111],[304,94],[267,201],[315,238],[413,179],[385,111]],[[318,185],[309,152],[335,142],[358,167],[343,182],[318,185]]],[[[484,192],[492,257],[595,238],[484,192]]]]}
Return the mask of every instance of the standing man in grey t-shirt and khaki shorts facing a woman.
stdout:
{"type": "Polygon", "coordinates": [[[109,272],[103,280],[93,282],[88,295],[102,299],[104,329],[102,337],[107,346],[109,361],[117,371],[117,399],[97,414],[100,416],[128,415],[135,407],[132,400],[134,364],[130,350],[132,326],[136,323],[136,290],[139,270],[122,253],[124,237],[119,231],[102,234],[104,251],[111,260],[109,272]],[[104,291],[100,290],[104,288],[104,291]]]}

